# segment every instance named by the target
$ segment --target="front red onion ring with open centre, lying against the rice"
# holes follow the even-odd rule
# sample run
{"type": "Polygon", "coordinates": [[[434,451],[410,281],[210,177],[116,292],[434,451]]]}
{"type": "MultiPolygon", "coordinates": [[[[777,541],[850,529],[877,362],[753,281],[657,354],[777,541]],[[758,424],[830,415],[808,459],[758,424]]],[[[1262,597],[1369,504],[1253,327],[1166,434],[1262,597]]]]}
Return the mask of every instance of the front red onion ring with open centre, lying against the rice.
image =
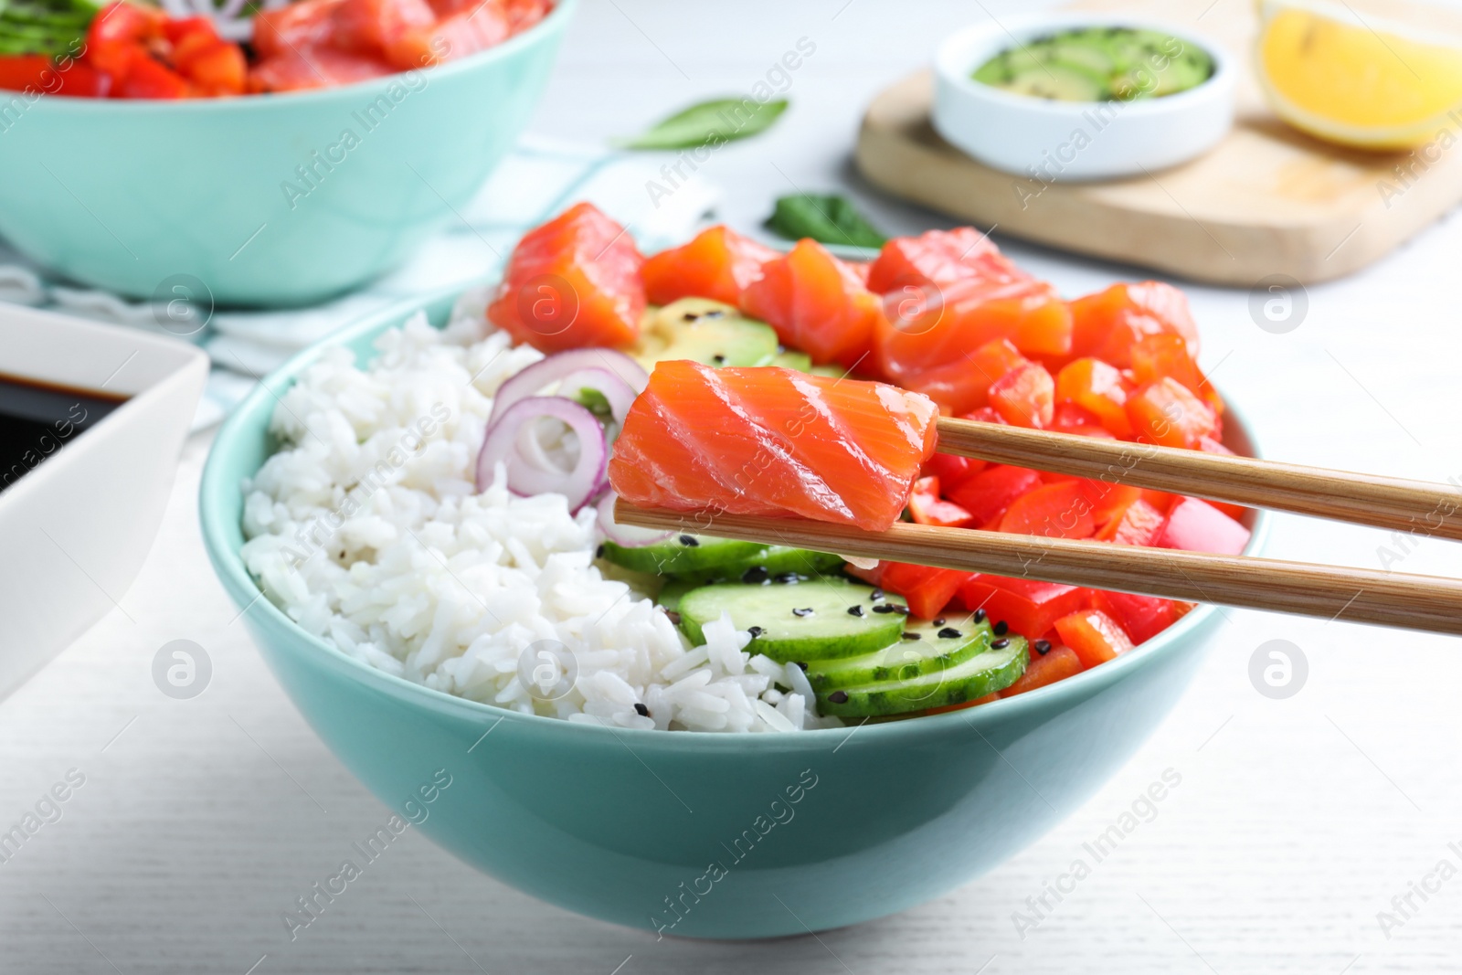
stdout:
{"type": "MultiPolygon", "coordinates": [[[[496,412],[496,411],[494,411],[496,412]]],[[[499,462],[507,469],[507,490],[522,497],[534,494],[563,494],[569,512],[577,512],[604,484],[610,462],[610,447],[604,441],[604,427],[598,418],[563,396],[529,396],[503,411],[482,436],[477,455],[477,490],[485,491],[493,482],[499,462]],[[542,446],[532,440],[531,424],[542,418],[558,420],[579,440],[579,462],[573,471],[563,471],[548,460],[542,446]],[[528,437],[529,440],[523,440],[528,437]]]]}

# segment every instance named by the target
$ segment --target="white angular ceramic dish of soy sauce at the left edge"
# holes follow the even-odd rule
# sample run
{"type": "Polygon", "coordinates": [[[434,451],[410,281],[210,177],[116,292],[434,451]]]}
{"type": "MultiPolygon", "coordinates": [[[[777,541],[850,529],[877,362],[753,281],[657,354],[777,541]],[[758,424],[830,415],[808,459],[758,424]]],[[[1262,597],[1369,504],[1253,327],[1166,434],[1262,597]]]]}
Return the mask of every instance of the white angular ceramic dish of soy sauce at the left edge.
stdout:
{"type": "Polygon", "coordinates": [[[115,607],[142,569],[208,357],[137,329],[0,304],[0,373],[127,398],[75,437],[57,421],[23,471],[0,472],[3,699],[115,607]]]}

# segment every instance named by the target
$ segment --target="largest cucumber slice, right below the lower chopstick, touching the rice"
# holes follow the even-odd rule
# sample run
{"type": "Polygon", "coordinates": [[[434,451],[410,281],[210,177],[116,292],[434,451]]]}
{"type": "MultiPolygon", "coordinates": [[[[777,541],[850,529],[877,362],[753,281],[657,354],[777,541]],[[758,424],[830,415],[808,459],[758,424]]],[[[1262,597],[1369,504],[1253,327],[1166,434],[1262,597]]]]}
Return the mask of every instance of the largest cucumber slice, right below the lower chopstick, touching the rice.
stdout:
{"type": "Polygon", "coordinates": [[[855,656],[889,646],[904,631],[904,599],[874,601],[874,592],[842,579],[702,586],[680,599],[680,629],[692,643],[705,643],[702,627],[730,612],[738,630],[751,630],[750,653],[782,662],[855,656]]]}

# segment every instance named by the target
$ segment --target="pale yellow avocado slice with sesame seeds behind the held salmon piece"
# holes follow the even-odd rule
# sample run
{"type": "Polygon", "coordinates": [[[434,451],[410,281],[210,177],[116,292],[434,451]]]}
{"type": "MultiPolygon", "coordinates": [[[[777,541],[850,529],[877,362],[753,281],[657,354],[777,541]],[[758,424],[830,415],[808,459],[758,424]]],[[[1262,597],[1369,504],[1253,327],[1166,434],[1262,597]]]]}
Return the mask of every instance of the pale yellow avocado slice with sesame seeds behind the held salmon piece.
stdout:
{"type": "Polygon", "coordinates": [[[681,298],[646,313],[640,339],[629,352],[646,370],[662,360],[705,365],[766,365],[781,348],[765,322],[711,298],[681,298]]]}

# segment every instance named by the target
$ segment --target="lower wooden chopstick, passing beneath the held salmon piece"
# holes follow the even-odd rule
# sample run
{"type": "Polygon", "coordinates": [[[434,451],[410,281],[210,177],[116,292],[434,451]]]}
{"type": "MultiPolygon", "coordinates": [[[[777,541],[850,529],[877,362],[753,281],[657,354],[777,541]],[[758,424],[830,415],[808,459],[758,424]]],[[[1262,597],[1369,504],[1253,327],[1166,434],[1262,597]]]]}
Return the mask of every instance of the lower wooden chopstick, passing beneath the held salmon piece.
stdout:
{"type": "MultiPolygon", "coordinates": [[[[940,430],[943,431],[943,425],[940,430]]],[[[1083,439],[1075,437],[1075,440],[1083,439]]],[[[1029,463],[1031,455],[1023,456],[1029,463]]],[[[1192,485],[1180,488],[1175,481],[1168,481],[1164,487],[1167,485],[1186,494],[1194,493],[1190,490],[1192,485]]],[[[1254,497],[1251,493],[1243,496],[1249,503],[1256,503],[1254,497]]],[[[1230,496],[1221,500],[1240,500],[1240,497],[1230,496]]],[[[991,572],[1187,602],[1216,602],[1327,620],[1462,634],[1462,580],[1437,576],[982,532],[968,528],[936,528],[908,522],[898,522],[886,532],[868,532],[800,517],[643,509],[624,500],[616,504],[614,519],[640,528],[743,538],[839,555],[991,572]]]]}

